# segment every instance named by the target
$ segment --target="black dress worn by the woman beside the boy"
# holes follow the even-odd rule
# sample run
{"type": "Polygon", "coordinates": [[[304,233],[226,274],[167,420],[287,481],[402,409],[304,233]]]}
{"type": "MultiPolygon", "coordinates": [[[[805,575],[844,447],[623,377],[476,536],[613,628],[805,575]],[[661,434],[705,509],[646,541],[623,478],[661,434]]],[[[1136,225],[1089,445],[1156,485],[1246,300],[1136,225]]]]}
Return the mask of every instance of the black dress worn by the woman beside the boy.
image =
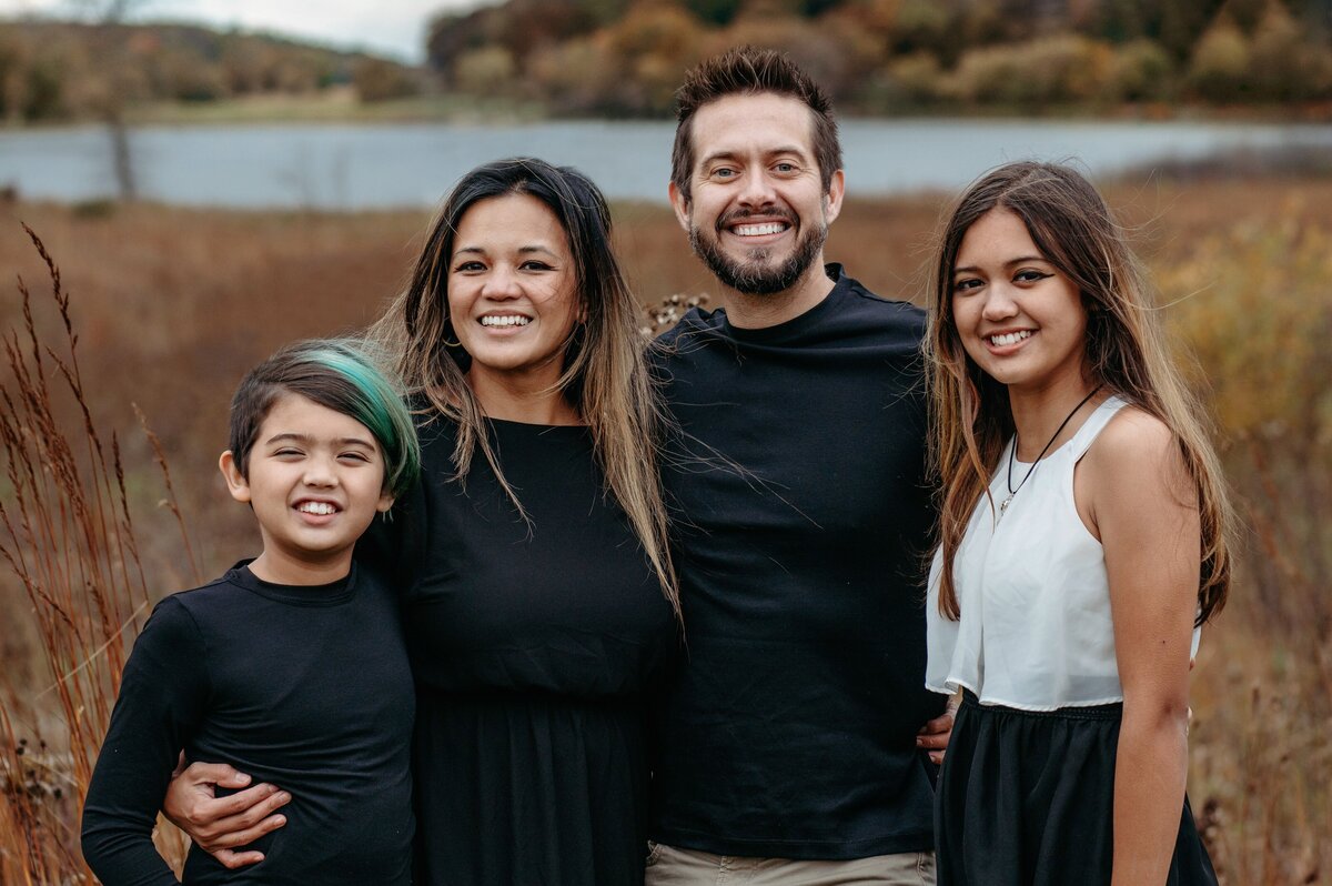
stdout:
{"type": "Polygon", "coordinates": [[[417,882],[642,883],[650,683],[678,630],[590,432],[493,421],[519,517],[456,425],[421,428],[397,564],[417,683],[417,882]]]}

